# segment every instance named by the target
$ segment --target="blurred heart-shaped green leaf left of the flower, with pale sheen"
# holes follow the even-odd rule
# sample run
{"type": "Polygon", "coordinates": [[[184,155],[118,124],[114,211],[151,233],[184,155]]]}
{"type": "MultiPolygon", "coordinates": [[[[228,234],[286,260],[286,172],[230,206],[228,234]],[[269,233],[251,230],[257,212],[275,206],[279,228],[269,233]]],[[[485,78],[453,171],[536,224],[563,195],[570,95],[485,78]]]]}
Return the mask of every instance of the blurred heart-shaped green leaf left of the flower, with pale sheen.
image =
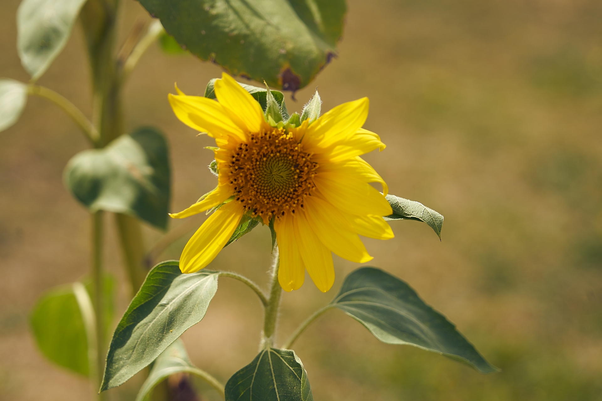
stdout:
{"type": "Polygon", "coordinates": [[[167,226],[170,165],[167,141],[155,128],[138,128],[104,149],[88,149],[67,164],[64,182],[90,211],[107,210],[167,226]]]}

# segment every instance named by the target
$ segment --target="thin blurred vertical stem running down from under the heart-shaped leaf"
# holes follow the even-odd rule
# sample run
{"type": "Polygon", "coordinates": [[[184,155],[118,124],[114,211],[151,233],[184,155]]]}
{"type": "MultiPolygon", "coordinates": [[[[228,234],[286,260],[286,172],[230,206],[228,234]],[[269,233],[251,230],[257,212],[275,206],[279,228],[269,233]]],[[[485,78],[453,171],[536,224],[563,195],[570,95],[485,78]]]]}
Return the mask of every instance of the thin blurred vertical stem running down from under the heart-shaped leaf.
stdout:
{"type": "MultiPolygon", "coordinates": [[[[96,384],[99,388],[104,371],[104,291],[102,288],[102,217],[103,212],[92,213],[92,303],[95,308],[96,326],[96,384]]],[[[98,395],[99,400],[104,399],[104,393],[98,395]]]]}

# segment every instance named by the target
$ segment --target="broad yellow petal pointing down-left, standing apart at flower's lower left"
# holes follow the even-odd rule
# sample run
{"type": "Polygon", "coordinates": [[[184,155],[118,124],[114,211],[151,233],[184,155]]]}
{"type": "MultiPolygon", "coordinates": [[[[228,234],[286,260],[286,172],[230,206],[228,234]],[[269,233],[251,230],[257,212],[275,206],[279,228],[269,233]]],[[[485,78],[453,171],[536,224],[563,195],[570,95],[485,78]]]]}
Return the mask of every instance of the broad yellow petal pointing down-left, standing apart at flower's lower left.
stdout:
{"type": "Polygon", "coordinates": [[[228,202],[209,216],[188,240],[180,257],[182,273],[194,273],[213,261],[243,217],[240,202],[228,202]]]}

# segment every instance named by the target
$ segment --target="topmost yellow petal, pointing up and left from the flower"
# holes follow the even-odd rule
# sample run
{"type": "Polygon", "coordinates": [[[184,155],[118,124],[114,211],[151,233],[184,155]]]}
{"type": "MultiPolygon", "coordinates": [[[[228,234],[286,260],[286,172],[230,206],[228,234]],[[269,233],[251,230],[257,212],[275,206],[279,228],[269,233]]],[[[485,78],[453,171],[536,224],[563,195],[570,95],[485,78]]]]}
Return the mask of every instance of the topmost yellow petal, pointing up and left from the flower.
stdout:
{"type": "Polygon", "coordinates": [[[231,76],[222,73],[214,84],[216,97],[228,115],[243,131],[259,132],[264,113],[259,103],[231,76]]]}

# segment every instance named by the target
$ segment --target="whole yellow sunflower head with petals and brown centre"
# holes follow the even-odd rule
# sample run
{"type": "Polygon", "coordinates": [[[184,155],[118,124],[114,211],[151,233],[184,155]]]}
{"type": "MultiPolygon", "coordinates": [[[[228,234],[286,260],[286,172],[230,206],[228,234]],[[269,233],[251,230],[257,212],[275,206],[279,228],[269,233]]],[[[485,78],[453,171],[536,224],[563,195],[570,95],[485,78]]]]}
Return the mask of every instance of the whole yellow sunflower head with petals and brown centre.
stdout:
{"type": "Polygon", "coordinates": [[[203,269],[245,219],[273,223],[278,241],[278,280],[285,291],[303,284],[305,270],[321,291],[334,282],[332,254],[365,263],[372,259],[359,239],[386,240],[383,219],[393,213],[385,181],[359,155],[384,149],[362,129],[368,99],[341,104],[317,119],[275,124],[231,76],[214,84],[217,101],[169,95],[178,119],[215,138],[217,188],[176,219],[217,208],[186,244],[183,273],[203,269]],[[269,121],[269,122],[268,122],[269,121]],[[297,126],[295,126],[297,125],[297,126]],[[369,182],[379,182],[383,195],[369,182]]]}

